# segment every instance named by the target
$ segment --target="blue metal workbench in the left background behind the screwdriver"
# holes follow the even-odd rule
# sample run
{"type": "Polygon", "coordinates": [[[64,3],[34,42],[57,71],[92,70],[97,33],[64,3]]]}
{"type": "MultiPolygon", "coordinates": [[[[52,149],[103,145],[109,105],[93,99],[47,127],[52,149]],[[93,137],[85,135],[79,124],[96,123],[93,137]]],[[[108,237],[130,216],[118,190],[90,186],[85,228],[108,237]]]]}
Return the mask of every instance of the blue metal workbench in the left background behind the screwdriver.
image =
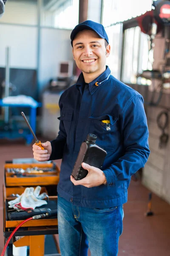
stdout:
{"type": "MultiPolygon", "coordinates": [[[[11,103],[3,103],[2,99],[0,99],[0,107],[20,107],[20,108],[30,108],[29,114],[29,123],[31,125],[32,130],[36,133],[36,115],[37,115],[37,108],[41,107],[41,103],[37,102],[37,106],[33,107],[28,104],[11,104],[11,103]]],[[[23,119],[24,120],[24,119],[23,119]]],[[[0,131],[0,139],[8,138],[8,139],[16,139],[16,138],[25,138],[26,144],[31,144],[33,140],[33,135],[29,131],[29,129],[19,129],[19,131],[0,131]]]]}

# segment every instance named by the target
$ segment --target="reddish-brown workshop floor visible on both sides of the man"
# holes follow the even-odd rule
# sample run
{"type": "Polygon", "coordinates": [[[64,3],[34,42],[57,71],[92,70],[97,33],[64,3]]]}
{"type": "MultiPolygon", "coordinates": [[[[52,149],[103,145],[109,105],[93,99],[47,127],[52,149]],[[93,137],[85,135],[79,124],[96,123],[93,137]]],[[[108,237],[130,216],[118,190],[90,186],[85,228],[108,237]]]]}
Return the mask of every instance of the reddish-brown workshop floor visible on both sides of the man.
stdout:
{"type": "MultiPolygon", "coordinates": [[[[32,146],[26,146],[24,140],[17,142],[0,140],[1,188],[5,161],[25,157],[33,157],[33,155],[32,146]]],[[[154,215],[145,217],[149,190],[142,186],[140,181],[132,180],[128,192],[128,202],[124,205],[124,230],[119,240],[119,256],[170,256],[170,205],[153,194],[154,215]]],[[[4,245],[2,196],[0,223],[1,253],[4,245]]]]}

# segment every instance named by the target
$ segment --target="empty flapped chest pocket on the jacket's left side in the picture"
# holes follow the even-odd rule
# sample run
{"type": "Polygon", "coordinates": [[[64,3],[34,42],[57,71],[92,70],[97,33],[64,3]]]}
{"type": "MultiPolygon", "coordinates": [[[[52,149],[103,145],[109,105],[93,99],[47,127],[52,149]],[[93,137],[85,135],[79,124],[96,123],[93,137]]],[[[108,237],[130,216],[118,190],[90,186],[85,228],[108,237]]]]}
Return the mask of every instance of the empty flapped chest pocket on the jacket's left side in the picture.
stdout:
{"type": "Polygon", "coordinates": [[[63,122],[64,128],[65,128],[65,132],[67,134],[67,144],[69,142],[72,118],[73,118],[73,110],[65,110],[65,109],[63,109],[61,111],[61,116],[58,117],[60,122],[63,122]]]}

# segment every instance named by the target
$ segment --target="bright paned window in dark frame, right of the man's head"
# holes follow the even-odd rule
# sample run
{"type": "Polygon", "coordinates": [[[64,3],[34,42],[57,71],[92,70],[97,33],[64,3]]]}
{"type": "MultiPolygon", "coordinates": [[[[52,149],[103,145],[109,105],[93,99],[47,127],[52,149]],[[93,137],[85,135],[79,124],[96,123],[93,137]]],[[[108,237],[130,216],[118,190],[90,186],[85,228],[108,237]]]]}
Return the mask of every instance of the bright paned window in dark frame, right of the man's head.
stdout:
{"type": "Polygon", "coordinates": [[[123,49],[122,81],[130,84],[150,84],[150,80],[136,78],[143,70],[152,70],[149,60],[149,35],[139,26],[126,29],[123,49]]]}

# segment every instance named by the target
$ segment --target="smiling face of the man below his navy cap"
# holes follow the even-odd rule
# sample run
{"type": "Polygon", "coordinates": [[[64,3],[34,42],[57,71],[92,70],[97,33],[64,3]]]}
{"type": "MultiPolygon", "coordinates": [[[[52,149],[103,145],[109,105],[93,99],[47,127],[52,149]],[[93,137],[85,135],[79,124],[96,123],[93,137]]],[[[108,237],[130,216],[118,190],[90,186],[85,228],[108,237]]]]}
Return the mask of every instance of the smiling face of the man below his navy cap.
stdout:
{"type": "Polygon", "coordinates": [[[106,69],[106,58],[110,54],[110,45],[105,47],[105,39],[92,30],[82,30],[73,40],[73,56],[77,67],[83,74],[99,76],[106,69]]]}

